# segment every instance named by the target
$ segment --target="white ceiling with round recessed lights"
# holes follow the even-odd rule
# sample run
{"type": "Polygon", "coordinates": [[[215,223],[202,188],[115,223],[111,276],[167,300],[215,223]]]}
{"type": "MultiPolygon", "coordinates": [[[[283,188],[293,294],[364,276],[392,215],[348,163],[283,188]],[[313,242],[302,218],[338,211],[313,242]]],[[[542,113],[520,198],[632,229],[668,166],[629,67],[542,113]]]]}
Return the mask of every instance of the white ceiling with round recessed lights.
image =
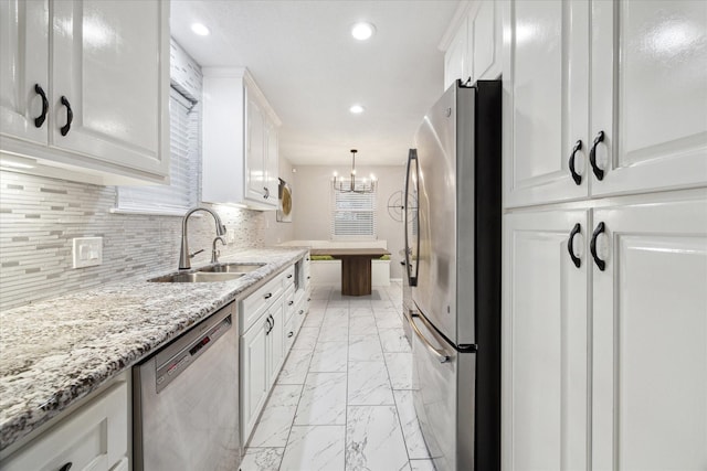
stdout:
{"type": "Polygon", "coordinates": [[[457,0],[171,1],[171,34],[202,66],[246,66],[282,120],[294,165],[403,164],[443,92],[439,45],[457,0]],[[351,25],[376,34],[356,41],[351,25]],[[191,32],[201,22],[208,36],[191,32]],[[349,107],[362,105],[361,115],[349,107]]]}

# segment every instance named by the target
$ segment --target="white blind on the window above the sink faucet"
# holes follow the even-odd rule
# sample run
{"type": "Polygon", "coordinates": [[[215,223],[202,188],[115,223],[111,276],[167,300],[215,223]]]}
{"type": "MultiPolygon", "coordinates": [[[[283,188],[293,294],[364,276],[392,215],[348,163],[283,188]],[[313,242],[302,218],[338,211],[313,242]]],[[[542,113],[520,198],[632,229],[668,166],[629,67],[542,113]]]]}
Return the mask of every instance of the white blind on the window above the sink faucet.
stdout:
{"type": "Polygon", "coordinates": [[[199,105],[175,88],[169,95],[169,185],[118,186],[117,210],[183,215],[199,194],[199,105]]]}

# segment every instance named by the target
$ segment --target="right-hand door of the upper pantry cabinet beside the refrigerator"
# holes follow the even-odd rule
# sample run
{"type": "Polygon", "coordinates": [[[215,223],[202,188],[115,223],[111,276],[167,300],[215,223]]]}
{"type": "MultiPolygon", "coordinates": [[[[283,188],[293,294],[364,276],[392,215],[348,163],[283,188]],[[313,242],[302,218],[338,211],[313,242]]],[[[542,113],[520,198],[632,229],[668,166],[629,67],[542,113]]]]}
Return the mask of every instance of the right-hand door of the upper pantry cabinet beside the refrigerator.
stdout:
{"type": "Polygon", "coordinates": [[[593,1],[592,194],[707,183],[707,2],[593,1]]]}

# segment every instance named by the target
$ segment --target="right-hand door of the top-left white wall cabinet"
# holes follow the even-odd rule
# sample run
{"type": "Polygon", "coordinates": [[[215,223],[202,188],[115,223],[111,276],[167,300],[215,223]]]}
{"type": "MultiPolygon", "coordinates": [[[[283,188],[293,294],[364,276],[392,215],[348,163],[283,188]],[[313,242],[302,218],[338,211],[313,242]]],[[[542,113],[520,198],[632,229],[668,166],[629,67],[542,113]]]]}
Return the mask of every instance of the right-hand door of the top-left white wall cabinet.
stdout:
{"type": "Polygon", "coordinates": [[[168,175],[169,3],[83,0],[52,6],[50,144],[168,175]],[[63,136],[68,106],[73,121],[63,136]]]}

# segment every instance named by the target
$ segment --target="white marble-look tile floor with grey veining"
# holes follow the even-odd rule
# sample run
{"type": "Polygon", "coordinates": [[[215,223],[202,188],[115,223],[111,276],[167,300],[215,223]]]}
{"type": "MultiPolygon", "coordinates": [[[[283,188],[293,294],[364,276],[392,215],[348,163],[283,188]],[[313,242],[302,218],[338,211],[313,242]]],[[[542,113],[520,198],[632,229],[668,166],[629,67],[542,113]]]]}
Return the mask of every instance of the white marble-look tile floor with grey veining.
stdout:
{"type": "Polygon", "coordinates": [[[434,470],[412,405],[400,283],[315,287],[242,471],[434,470]]]}

